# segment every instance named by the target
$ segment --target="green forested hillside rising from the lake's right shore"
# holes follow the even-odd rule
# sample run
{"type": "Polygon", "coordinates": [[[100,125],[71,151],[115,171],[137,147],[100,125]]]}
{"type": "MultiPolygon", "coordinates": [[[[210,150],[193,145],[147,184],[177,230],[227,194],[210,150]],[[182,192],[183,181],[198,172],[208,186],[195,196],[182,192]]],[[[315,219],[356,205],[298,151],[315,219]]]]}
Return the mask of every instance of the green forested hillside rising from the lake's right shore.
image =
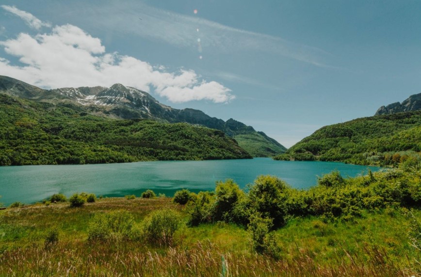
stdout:
{"type": "Polygon", "coordinates": [[[324,126],[275,159],[396,166],[420,151],[421,111],[413,111],[324,126]]]}

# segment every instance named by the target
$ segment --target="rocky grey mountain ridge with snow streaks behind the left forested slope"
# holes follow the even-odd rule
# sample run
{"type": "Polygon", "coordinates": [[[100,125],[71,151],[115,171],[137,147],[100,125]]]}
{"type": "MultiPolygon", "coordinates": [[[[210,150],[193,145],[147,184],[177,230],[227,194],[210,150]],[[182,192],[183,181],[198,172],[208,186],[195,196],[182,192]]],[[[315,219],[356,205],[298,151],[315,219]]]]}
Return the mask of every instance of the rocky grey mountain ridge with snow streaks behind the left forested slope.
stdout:
{"type": "Polygon", "coordinates": [[[274,156],[287,150],[275,139],[253,127],[229,119],[210,117],[201,110],[166,106],[147,92],[122,84],[42,90],[22,81],[0,76],[0,92],[35,101],[82,108],[86,113],[113,119],[152,119],[165,123],[190,123],[223,131],[252,156],[274,156]]]}

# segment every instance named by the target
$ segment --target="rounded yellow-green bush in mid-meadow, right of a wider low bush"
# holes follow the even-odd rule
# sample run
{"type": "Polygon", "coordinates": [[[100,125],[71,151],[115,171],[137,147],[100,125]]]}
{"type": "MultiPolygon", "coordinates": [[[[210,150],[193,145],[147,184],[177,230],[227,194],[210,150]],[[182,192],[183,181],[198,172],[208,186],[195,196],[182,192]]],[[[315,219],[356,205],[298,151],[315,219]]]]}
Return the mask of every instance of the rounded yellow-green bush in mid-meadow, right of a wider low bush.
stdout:
{"type": "Polygon", "coordinates": [[[174,232],[181,225],[177,211],[162,209],[152,212],[143,222],[143,233],[146,241],[155,245],[171,245],[174,232]]]}

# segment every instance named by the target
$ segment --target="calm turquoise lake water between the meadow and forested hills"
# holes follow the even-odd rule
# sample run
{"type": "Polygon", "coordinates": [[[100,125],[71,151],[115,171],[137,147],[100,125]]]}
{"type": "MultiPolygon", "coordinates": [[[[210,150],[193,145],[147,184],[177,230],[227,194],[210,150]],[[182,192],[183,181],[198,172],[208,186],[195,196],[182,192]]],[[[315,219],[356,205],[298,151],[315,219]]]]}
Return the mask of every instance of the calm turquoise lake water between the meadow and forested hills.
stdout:
{"type": "Polygon", "coordinates": [[[292,187],[308,188],[317,176],[339,170],[343,177],[355,177],[378,167],[333,162],[274,161],[271,158],[213,161],[158,161],[124,164],[0,167],[0,202],[33,203],[54,193],[75,192],[97,196],[139,196],[146,189],[172,196],[181,188],[213,190],[215,181],[228,178],[241,187],[261,174],[278,176],[292,187]]]}

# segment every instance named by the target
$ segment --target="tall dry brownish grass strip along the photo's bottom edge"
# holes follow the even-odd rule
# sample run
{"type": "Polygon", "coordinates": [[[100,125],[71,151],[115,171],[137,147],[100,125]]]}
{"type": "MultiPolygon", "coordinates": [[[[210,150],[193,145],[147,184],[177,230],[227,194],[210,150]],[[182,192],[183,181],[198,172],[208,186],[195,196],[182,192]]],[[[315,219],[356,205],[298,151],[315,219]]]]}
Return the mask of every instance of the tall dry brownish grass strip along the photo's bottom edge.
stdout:
{"type": "Polygon", "coordinates": [[[32,245],[4,251],[0,276],[421,276],[400,268],[381,248],[366,247],[369,260],[347,254],[329,265],[316,263],[306,251],[291,261],[275,261],[253,253],[221,251],[208,243],[148,251],[132,242],[32,245]],[[224,259],[221,259],[221,257],[224,259]]]}

